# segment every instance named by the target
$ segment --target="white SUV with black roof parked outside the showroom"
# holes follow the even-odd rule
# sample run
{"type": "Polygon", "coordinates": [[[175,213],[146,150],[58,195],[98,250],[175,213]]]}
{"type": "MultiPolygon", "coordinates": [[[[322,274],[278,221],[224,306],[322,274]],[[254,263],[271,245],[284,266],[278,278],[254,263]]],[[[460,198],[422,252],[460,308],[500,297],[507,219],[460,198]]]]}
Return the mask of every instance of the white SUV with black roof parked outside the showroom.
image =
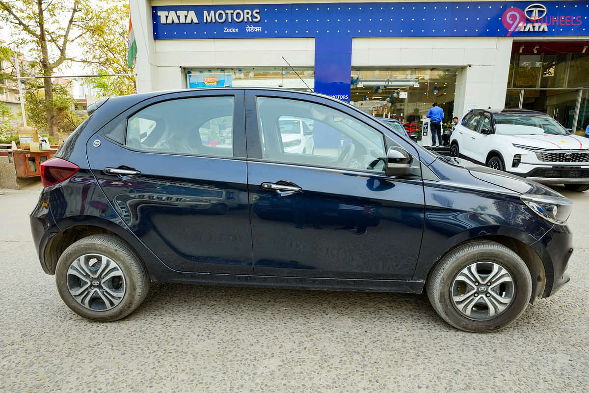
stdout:
{"type": "Polygon", "coordinates": [[[544,184],[589,190],[589,139],[545,113],[472,110],[450,137],[450,154],[544,184]]]}

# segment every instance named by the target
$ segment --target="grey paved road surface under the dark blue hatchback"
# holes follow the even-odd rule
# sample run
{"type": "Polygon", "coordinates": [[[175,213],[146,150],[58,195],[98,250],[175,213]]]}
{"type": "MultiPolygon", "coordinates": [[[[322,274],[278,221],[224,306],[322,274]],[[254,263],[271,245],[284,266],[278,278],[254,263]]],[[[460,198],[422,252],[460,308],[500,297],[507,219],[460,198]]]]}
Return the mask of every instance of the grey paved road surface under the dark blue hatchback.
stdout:
{"type": "Polygon", "coordinates": [[[572,281],[487,335],[425,295],[175,284],[93,323],[39,267],[38,191],[0,192],[0,391],[589,391],[589,192],[559,191],[575,202],[572,281]]]}

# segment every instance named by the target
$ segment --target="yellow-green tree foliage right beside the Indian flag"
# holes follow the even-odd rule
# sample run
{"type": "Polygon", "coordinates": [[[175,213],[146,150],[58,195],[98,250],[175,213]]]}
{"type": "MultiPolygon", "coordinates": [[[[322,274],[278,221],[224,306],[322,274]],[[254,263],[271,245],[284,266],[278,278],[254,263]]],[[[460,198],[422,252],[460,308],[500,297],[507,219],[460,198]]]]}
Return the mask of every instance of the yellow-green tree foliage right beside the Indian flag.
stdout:
{"type": "MultiPolygon", "coordinates": [[[[127,68],[129,4],[97,4],[89,15],[88,33],[82,37],[83,59],[92,74],[130,74],[127,68]]],[[[133,67],[134,68],[134,67],[133,67]]],[[[95,77],[85,81],[98,90],[98,97],[135,93],[135,77],[95,77]]]]}

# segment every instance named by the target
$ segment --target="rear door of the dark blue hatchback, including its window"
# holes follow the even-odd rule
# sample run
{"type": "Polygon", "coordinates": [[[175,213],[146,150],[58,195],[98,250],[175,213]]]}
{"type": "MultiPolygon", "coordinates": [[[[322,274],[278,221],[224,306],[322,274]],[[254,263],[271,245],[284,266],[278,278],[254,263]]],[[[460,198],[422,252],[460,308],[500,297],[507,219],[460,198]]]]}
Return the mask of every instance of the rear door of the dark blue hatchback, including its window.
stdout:
{"type": "Polygon", "coordinates": [[[90,138],[88,161],[124,224],[168,267],[252,274],[244,94],[166,94],[90,138]]]}

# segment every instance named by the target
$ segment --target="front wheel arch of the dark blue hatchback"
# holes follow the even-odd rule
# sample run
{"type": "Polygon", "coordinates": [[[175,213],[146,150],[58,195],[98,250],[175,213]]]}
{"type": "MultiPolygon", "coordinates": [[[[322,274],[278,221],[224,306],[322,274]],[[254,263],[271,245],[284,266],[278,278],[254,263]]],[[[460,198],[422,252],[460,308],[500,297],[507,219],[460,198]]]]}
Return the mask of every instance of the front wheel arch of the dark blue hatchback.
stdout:
{"type": "Polygon", "coordinates": [[[508,249],[515,252],[521,259],[524,261],[525,265],[528,267],[530,271],[530,276],[532,278],[532,296],[530,298],[530,303],[534,303],[535,298],[539,298],[544,293],[544,289],[546,286],[546,269],[544,267],[544,263],[542,263],[541,257],[538,255],[537,252],[530,246],[523,242],[521,239],[517,239],[512,236],[506,235],[482,235],[477,237],[472,237],[471,239],[464,240],[462,242],[456,243],[452,246],[448,251],[444,253],[432,266],[429,268],[429,272],[427,275],[427,279],[429,280],[430,275],[436,265],[444,259],[446,255],[451,253],[456,248],[465,245],[466,243],[477,242],[479,240],[489,240],[491,242],[499,243],[508,249]]]}

